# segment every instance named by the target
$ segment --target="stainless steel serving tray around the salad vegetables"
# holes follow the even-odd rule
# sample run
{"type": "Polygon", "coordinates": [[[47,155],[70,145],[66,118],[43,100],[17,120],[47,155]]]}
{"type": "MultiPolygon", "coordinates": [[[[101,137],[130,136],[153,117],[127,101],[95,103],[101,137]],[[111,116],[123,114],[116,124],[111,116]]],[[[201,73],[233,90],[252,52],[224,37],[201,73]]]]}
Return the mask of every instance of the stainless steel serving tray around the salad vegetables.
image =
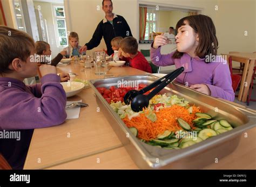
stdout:
{"type": "Polygon", "coordinates": [[[117,86],[118,81],[122,80],[138,81],[139,83],[150,84],[157,79],[158,77],[149,74],[89,81],[92,89],[96,93],[96,101],[100,110],[104,112],[104,115],[111,124],[114,132],[116,132],[118,138],[139,168],[203,168],[208,164],[214,163],[216,159],[219,160],[232,153],[238,146],[242,132],[256,126],[256,113],[254,111],[204,95],[185,87],[184,85],[171,83],[160,93],[163,94],[170,92],[172,95],[177,95],[179,98],[185,98],[190,102],[190,104],[199,106],[204,112],[210,114],[214,119],[228,120],[234,129],[226,133],[213,136],[210,139],[196,143],[195,145],[184,149],[167,150],[147,145],[146,143],[138,140],[134,135],[129,134],[129,128],[126,127],[122,119],[120,119],[118,114],[112,110],[111,106],[106,102],[96,88],[109,88],[112,85],[117,86]]]}

